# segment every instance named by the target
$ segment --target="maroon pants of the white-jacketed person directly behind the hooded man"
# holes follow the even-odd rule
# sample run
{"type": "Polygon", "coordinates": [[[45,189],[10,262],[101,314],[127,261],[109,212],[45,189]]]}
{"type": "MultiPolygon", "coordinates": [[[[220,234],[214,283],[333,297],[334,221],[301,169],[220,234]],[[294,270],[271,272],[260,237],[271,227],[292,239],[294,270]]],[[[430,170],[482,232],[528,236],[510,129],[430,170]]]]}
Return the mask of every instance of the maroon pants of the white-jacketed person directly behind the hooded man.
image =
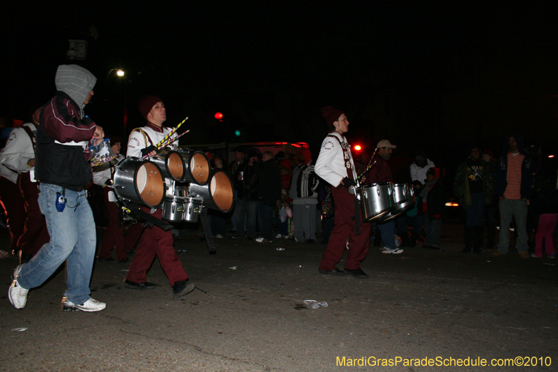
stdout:
{"type": "Polygon", "coordinates": [[[23,234],[17,241],[17,248],[20,248],[22,253],[27,253],[33,257],[40,247],[50,241],[50,235],[48,235],[45,216],[40,211],[37,183],[31,182],[29,172],[20,174],[17,179],[17,186],[19,186],[22,198],[25,200],[25,211],[27,213],[23,234]]]}

